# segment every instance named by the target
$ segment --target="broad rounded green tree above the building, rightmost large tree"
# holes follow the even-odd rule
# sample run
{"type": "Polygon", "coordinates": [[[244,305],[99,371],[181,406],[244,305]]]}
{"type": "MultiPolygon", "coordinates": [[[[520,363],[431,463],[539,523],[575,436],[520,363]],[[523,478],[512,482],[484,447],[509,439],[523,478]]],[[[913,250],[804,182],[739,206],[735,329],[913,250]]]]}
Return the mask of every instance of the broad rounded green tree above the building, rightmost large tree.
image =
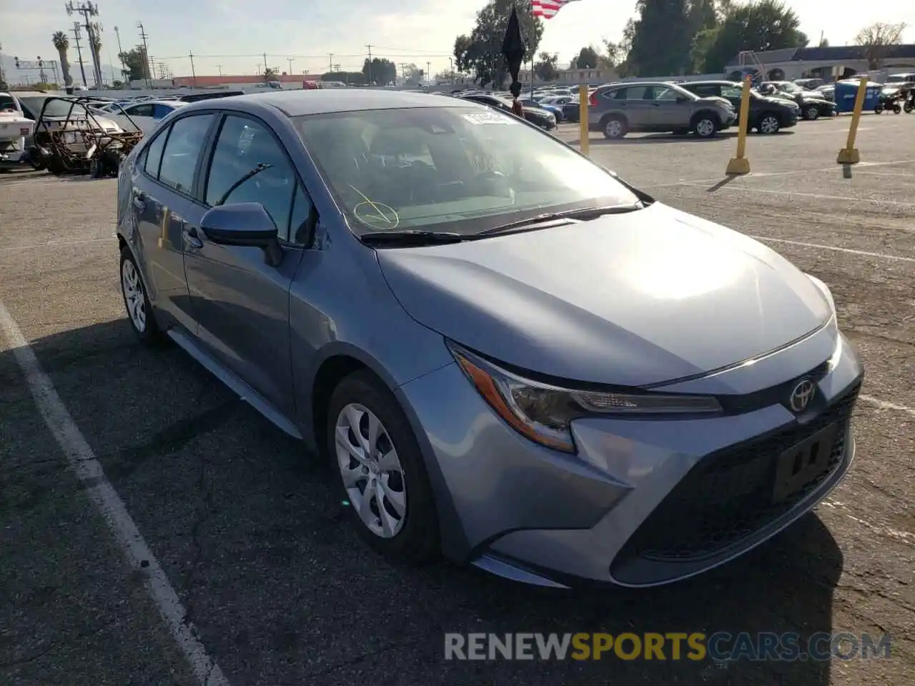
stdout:
{"type": "Polygon", "coordinates": [[[713,34],[704,32],[696,37],[694,65],[704,73],[721,72],[742,50],[803,48],[808,41],[800,26],[798,16],[780,0],[736,5],[719,27],[711,29],[713,34]]]}

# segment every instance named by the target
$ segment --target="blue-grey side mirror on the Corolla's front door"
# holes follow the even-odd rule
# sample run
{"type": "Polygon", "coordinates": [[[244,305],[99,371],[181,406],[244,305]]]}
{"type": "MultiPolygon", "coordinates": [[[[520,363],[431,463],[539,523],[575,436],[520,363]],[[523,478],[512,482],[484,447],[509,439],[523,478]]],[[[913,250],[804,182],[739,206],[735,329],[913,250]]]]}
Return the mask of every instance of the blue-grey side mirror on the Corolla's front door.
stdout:
{"type": "Polygon", "coordinates": [[[277,266],[283,259],[274,220],[259,202],[236,202],[212,208],[200,220],[200,229],[219,245],[262,248],[264,261],[271,266],[277,266]]]}

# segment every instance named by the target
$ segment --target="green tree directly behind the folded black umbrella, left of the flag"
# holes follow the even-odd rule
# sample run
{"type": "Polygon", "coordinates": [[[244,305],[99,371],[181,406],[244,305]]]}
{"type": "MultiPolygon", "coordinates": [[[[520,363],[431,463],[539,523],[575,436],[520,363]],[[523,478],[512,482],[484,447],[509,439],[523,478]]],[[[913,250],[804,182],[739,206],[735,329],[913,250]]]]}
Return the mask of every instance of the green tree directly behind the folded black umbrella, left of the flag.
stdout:
{"type": "MultiPolygon", "coordinates": [[[[473,74],[480,86],[490,83],[501,88],[508,77],[505,58],[502,57],[502,38],[511,16],[512,0],[492,0],[477,13],[477,21],[469,36],[455,39],[454,56],[458,69],[473,74]]],[[[537,52],[544,25],[533,16],[531,0],[517,0],[522,36],[527,45],[524,59],[537,52]]]]}

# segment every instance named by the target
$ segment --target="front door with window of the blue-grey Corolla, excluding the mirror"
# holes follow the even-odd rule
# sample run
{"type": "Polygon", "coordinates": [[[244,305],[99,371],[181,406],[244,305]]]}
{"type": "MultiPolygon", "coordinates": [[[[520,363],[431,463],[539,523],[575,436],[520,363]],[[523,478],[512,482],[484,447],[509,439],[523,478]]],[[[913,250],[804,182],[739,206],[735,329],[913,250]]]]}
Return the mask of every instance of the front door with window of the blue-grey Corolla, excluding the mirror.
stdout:
{"type": "Polygon", "coordinates": [[[270,128],[240,114],[223,120],[203,178],[199,201],[189,210],[184,244],[199,341],[275,409],[294,416],[289,289],[303,252],[296,244],[296,227],[306,223],[310,202],[270,128]],[[242,180],[259,165],[262,171],[242,180]],[[278,266],[264,262],[261,248],[207,239],[200,226],[206,211],[234,202],[259,202],[270,214],[283,244],[278,266]]]}

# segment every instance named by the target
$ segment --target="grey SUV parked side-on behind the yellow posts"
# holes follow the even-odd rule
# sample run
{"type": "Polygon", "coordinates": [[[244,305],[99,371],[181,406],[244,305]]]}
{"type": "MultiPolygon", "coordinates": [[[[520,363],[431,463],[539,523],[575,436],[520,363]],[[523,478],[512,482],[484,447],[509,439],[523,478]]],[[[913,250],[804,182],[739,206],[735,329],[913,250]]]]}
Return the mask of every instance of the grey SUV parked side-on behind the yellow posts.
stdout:
{"type": "Polygon", "coordinates": [[[734,107],[724,98],[700,98],[673,83],[640,81],[601,86],[591,94],[588,127],[607,138],[630,131],[693,132],[711,138],[737,121],[734,107]]]}

